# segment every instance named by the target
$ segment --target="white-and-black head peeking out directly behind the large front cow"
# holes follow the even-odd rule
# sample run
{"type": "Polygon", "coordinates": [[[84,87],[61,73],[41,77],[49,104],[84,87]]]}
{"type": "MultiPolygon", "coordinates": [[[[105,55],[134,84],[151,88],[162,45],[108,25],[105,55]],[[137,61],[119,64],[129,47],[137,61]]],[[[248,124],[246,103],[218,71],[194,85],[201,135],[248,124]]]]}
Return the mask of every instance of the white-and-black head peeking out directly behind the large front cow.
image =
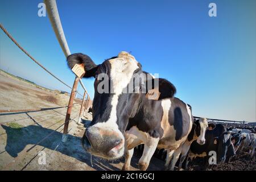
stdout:
{"type": "Polygon", "coordinates": [[[205,132],[208,129],[207,118],[200,118],[195,121],[196,124],[196,142],[199,144],[205,144],[205,132]]]}

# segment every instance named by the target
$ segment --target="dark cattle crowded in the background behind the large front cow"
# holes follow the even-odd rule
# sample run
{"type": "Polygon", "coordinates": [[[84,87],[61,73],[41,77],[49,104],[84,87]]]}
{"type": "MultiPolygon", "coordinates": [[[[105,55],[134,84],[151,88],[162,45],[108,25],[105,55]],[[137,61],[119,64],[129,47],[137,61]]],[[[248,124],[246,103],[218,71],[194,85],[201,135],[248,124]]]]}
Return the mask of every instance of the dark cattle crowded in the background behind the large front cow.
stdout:
{"type": "MultiPolygon", "coordinates": [[[[197,119],[196,122],[199,120],[197,119]]],[[[184,169],[188,169],[188,164],[193,166],[193,160],[196,158],[204,159],[204,166],[201,169],[209,168],[212,160],[213,152],[216,152],[216,164],[229,163],[234,156],[241,152],[248,152],[253,158],[256,148],[256,126],[241,126],[240,124],[230,123],[208,123],[208,129],[205,132],[205,144],[200,145],[196,141],[191,143],[185,162],[181,160],[177,163],[178,169],[181,165],[184,169]],[[230,126],[233,125],[233,126],[230,126]],[[208,154],[208,155],[207,155],[208,154]],[[210,155],[209,155],[210,154],[210,155]]],[[[191,131],[192,132],[192,131],[191,131]]],[[[143,146],[138,146],[137,151],[140,152],[143,146]]],[[[166,160],[166,150],[156,150],[155,156],[161,160],[166,160]]]]}

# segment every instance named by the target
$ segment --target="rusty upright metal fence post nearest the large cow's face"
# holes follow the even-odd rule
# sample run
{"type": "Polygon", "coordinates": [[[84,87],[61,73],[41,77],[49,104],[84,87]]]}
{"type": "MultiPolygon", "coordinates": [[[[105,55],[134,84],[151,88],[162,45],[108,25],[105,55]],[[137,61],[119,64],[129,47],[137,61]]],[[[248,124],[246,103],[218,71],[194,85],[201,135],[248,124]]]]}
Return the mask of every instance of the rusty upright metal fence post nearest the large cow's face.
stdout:
{"type": "Polygon", "coordinates": [[[67,114],[66,114],[66,118],[65,118],[65,125],[64,125],[64,130],[63,130],[63,136],[62,136],[62,142],[66,142],[68,139],[68,124],[69,124],[69,119],[71,116],[71,111],[72,111],[72,106],[73,106],[73,101],[75,98],[75,93],[76,93],[76,89],[77,89],[77,85],[79,82],[79,77],[76,76],[74,84],[73,84],[73,88],[69,97],[69,102],[68,102],[68,109],[67,109],[67,114]]]}

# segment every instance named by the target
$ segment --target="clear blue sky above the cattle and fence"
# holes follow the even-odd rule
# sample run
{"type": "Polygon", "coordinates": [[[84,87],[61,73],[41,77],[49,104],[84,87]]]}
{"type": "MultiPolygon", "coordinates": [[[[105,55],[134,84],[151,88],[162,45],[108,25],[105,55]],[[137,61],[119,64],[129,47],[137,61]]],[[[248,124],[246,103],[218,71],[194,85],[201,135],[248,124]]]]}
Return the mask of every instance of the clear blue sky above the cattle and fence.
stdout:
{"type": "MultiPolygon", "coordinates": [[[[73,73],[42,1],[0,1],[0,22],[36,60],[72,85],[73,73]]],[[[57,1],[72,53],[100,64],[131,51],[143,70],[177,88],[193,115],[256,121],[256,1],[57,1]],[[217,17],[209,17],[209,3],[217,17]]],[[[0,31],[0,68],[51,89],[67,86],[33,63],[0,31]]],[[[93,96],[93,80],[83,82],[93,96]]],[[[81,86],[79,88],[80,92],[81,86]]]]}

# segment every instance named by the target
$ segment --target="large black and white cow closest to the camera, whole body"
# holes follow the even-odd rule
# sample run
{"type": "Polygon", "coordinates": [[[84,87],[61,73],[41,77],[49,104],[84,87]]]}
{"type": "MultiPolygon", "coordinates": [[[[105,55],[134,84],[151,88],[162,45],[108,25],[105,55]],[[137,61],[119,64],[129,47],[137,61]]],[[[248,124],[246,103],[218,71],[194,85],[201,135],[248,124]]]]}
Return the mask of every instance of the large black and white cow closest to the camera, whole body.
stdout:
{"type": "MultiPolygon", "coordinates": [[[[176,89],[163,78],[144,78],[142,83],[159,82],[158,100],[149,100],[146,93],[125,93],[135,75],[146,74],[141,64],[127,52],[96,65],[89,56],[76,53],[68,56],[69,68],[84,64],[84,77],[94,77],[93,119],[82,138],[86,151],[105,159],[121,158],[125,154],[123,169],[129,169],[134,147],[144,143],[139,168],[146,170],[156,147],[177,150],[192,129],[189,106],[173,97],[176,89]],[[98,75],[108,75],[110,93],[98,92],[101,80],[98,75]]],[[[154,85],[154,84],[153,84],[154,85]]],[[[141,89],[141,86],[140,86],[141,89]]],[[[147,90],[148,93],[148,90],[147,90]]]]}

